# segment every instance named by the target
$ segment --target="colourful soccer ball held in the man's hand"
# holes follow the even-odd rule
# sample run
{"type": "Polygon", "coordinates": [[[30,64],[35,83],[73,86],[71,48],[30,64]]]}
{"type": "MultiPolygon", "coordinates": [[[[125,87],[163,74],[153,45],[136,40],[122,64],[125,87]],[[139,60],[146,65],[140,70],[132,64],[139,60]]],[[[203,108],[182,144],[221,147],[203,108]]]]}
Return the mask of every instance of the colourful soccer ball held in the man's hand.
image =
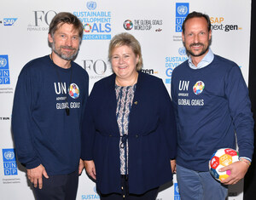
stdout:
{"type": "Polygon", "coordinates": [[[212,154],[212,157],[209,161],[209,170],[212,176],[220,181],[225,180],[230,176],[230,170],[219,172],[218,169],[224,168],[231,163],[238,161],[239,155],[238,152],[234,149],[223,148],[212,154]]]}

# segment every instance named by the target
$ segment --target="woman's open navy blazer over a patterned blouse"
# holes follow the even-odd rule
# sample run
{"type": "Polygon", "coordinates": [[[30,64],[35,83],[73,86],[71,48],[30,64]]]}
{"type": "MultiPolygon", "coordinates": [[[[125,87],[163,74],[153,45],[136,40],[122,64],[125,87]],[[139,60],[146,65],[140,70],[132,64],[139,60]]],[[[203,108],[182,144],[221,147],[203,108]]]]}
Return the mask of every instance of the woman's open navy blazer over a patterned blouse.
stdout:
{"type": "MultiPolygon", "coordinates": [[[[84,113],[82,159],[96,165],[96,187],[121,193],[115,74],[95,83],[84,113]]],[[[129,192],[142,194],[172,180],[177,153],[172,101],[162,80],[139,71],[128,127],[129,192]]]]}

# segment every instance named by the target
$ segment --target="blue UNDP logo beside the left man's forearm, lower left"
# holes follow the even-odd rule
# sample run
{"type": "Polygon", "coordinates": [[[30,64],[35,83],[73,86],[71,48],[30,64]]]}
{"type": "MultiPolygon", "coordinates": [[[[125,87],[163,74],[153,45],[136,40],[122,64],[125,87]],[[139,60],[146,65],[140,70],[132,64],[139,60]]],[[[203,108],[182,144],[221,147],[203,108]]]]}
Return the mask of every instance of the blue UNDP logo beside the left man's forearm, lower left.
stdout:
{"type": "Polygon", "coordinates": [[[18,168],[15,157],[15,149],[3,149],[4,175],[17,175],[18,168]]]}

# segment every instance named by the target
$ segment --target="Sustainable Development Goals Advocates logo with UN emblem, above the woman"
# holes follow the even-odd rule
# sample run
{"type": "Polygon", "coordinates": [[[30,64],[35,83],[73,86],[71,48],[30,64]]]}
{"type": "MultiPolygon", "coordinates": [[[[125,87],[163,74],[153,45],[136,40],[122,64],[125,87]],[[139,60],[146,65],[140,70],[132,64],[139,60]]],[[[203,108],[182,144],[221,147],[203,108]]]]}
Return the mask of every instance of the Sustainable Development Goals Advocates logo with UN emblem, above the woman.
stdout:
{"type": "Polygon", "coordinates": [[[73,12],[84,24],[83,40],[110,40],[111,39],[111,12],[94,11],[96,2],[86,3],[89,11],[73,12]]]}

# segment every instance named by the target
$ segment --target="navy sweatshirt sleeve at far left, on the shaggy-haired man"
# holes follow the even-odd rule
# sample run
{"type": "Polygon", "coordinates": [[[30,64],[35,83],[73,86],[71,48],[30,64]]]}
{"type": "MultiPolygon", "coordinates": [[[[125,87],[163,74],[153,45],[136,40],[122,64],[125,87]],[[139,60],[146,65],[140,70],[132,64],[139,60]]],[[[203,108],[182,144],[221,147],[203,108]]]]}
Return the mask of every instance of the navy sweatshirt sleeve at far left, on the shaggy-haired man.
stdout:
{"type": "Polygon", "coordinates": [[[33,146],[32,133],[32,78],[23,68],[20,72],[15,89],[15,99],[12,111],[12,132],[15,140],[15,149],[20,163],[26,166],[26,169],[38,167],[41,163],[37,151],[33,146]]]}

